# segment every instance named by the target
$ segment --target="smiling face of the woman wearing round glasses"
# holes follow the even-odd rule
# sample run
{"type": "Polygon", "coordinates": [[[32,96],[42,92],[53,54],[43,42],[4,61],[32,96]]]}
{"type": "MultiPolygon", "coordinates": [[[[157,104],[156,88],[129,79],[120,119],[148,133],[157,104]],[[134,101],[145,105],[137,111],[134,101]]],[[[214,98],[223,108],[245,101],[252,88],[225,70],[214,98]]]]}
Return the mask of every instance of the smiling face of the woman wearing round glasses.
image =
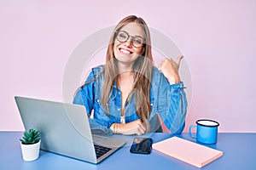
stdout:
{"type": "Polygon", "coordinates": [[[143,28],[135,22],[129,23],[123,26],[119,32],[121,32],[120,38],[124,38],[128,34],[128,40],[126,42],[120,42],[118,38],[115,38],[113,45],[113,54],[119,61],[119,65],[125,65],[131,67],[134,61],[143,54],[144,47],[137,47],[137,42],[144,38],[143,28]],[[122,34],[122,32],[124,34],[122,34]],[[127,34],[126,34],[127,33],[127,34]],[[133,41],[133,42],[132,42],[133,41]],[[136,47],[137,48],[136,48],[136,47]]]}

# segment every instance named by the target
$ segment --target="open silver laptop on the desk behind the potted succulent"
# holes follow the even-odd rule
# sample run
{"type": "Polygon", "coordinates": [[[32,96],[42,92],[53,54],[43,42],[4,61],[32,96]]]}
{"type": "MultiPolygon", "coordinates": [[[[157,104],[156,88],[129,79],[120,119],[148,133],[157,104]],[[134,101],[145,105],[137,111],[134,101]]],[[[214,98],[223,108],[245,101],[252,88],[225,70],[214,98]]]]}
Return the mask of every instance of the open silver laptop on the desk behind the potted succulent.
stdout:
{"type": "Polygon", "coordinates": [[[84,105],[15,96],[26,130],[37,128],[41,150],[99,163],[125,141],[91,134],[84,105]]]}

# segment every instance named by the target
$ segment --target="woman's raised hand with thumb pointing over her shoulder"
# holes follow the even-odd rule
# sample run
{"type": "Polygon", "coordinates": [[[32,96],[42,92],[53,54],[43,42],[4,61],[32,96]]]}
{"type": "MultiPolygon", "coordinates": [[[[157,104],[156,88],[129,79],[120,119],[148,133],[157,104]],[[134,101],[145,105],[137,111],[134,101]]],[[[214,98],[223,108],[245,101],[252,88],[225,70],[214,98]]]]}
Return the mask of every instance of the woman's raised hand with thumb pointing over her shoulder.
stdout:
{"type": "Polygon", "coordinates": [[[180,82],[180,77],[178,75],[178,68],[180,61],[183,59],[183,55],[177,57],[176,61],[171,58],[166,58],[160,63],[158,70],[164,74],[170,84],[175,84],[180,82]]]}

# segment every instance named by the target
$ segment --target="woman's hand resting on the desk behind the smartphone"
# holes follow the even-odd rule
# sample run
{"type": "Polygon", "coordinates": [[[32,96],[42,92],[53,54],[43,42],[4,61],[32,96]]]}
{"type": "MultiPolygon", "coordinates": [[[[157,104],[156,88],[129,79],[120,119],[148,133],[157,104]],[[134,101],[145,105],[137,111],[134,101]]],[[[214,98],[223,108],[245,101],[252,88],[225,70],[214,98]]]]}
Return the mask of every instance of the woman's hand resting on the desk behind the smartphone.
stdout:
{"type": "Polygon", "coordinates": [[[125,124],[116,124],[117,133],[122,133],[125,135],[137,134],[142,135],[146,133],[147,128],[143,122],[138,119],[137,121],[125,123],[125,124]]]}

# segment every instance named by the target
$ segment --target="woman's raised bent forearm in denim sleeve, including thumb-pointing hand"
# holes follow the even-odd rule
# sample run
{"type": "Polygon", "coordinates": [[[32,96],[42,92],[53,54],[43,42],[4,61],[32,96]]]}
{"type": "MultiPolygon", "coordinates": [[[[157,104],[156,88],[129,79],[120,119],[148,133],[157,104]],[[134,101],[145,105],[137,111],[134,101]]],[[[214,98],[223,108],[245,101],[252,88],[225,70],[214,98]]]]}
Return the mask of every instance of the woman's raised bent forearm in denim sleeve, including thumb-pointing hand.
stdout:
{"type": "Polygon", "coordinates": [[[160,111],[160,122],[164,122],[164,128],[167,127],[171,133],[181,133],[183,131],[184,122],[187,112],[187,99],[183,90],[183,82],[180,82],[178,68],[183,56],[178,56],[177,61],[166,58],[160,66],[159,71],[163,73],[169,82],[166,99],[167,111],[160,111]]]}

